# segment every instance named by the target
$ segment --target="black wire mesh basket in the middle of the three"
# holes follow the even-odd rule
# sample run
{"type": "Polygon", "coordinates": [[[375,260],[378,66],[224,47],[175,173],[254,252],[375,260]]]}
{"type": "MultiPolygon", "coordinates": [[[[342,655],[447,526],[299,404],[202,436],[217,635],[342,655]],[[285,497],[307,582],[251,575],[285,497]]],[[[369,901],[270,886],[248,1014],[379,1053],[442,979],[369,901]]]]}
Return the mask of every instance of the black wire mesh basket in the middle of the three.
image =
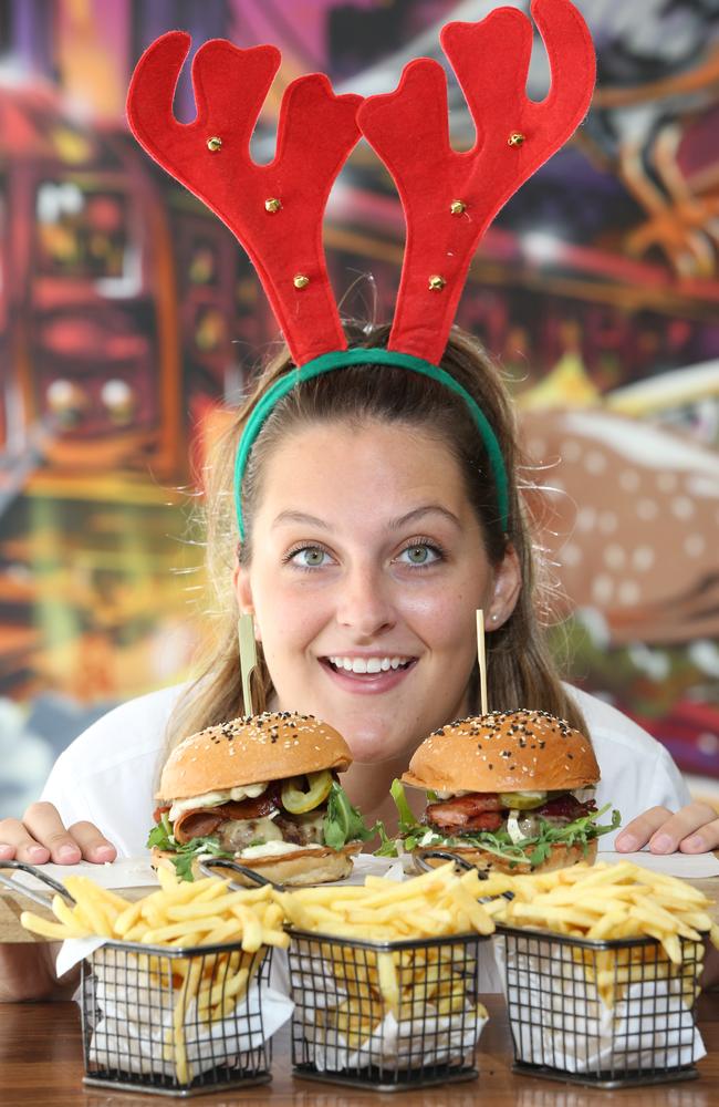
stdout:
{"type": "Polygon", "coordinates": [[[479,945],[487,938],[290,934],[296,1076],[384,1092],[477,1077],[475,1047],[487,1018],[478,1002],[479,945]]]}

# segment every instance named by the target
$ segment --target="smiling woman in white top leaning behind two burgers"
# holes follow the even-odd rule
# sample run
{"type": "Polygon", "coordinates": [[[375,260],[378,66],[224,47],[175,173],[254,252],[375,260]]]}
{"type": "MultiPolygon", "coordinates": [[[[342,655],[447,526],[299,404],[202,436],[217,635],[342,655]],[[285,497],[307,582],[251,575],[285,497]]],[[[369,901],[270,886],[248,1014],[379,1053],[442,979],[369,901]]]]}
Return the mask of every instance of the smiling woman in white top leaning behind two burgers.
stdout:
{"type": "MultiPolygon", "coordinates": [[[[382,346],[386,330],[350,329],[348,338],[382,346]]],[[[511,404],[470,337],[452,331],[442,368],[493,430],[509,477],[504,520],[497,469],[465,400],[437,381],[373,364],[368,353],[274,406],[244,469],[238,549],[230,509],[238,442],[290,365],[283,355],[265,370],[213,467],[210,570],[235,593],[219,596],[217,649],[189,687],[134,701],[77,738],[43,803],[0,823],[0,859],[101,862],[118,848],[140,852],[158,755],[243,712],[238,608],[254,614],[261,706],[312,713],[344,734],[355,757],[345,787],[368,820],[392,821],[389,784],[430,731],[478,713],[475,611],[482,608],[490,706],[542,708],[591,735],[597,800],[624,816],[616,848],[717,846],[716,813],[690,803],[666,751],[558,677],[538,625],[544,589],[517,479],[511,404]]]]}

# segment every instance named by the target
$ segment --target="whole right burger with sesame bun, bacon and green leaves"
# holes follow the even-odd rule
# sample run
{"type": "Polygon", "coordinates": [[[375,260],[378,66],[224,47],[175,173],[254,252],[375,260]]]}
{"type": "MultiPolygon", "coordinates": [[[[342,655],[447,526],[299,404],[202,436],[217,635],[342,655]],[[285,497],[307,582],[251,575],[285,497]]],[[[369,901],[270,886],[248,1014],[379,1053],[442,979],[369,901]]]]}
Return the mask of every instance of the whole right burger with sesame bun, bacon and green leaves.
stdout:
{"type": "Polygon", "coordinates": [[[392,794],[404,849],[448,849],[479,869],[533,872],[594,862],[600,767],[591,743],[543,711],[494,712],[449,723],[417,748],[392,794]],[[420,821],[403,785],[423,788],[420,821]]]}

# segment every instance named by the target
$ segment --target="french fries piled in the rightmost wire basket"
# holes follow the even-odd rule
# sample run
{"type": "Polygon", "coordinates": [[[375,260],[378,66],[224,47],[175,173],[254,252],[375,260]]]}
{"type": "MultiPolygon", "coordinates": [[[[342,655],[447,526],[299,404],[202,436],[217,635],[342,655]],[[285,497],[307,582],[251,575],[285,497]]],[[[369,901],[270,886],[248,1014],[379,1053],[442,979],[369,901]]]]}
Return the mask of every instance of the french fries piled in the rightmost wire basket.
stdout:
{"type": "Polygon", "coordinates": [[[719,927],[707,913],[710,900],[676,877],[653,872],[631,861],[576,865],[552,872],[513,877],[496,872],[482,882],[486,904],[497,921],[596,941],[654,938],[660,946],[615,950],[574,949],[587,980],[596,982],[603,1003],[613,1007],[626,986],[652,977],[679,976],[692,1002],[704,939],[719,949],[719,927]],[[512,892],[513,899],[501,897],[512,892]],[[685,939],[684,943],[680,939],[685,939]],[[649,968],[650,966],[650,968],[649,968]]]}

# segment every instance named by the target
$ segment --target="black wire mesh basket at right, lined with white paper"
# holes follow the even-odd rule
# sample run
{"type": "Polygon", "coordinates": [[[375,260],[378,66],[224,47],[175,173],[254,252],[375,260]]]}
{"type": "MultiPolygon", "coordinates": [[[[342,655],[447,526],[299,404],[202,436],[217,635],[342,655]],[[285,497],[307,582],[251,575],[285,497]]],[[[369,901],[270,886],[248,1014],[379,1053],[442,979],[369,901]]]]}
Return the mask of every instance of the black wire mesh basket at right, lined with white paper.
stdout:
{"type": "Polygon", "coordinates": [[[650,938],[592,941],[499,925],[514,1070],[617,1088],[697,1076],[700,945],[668,960],[650,938]]]}

